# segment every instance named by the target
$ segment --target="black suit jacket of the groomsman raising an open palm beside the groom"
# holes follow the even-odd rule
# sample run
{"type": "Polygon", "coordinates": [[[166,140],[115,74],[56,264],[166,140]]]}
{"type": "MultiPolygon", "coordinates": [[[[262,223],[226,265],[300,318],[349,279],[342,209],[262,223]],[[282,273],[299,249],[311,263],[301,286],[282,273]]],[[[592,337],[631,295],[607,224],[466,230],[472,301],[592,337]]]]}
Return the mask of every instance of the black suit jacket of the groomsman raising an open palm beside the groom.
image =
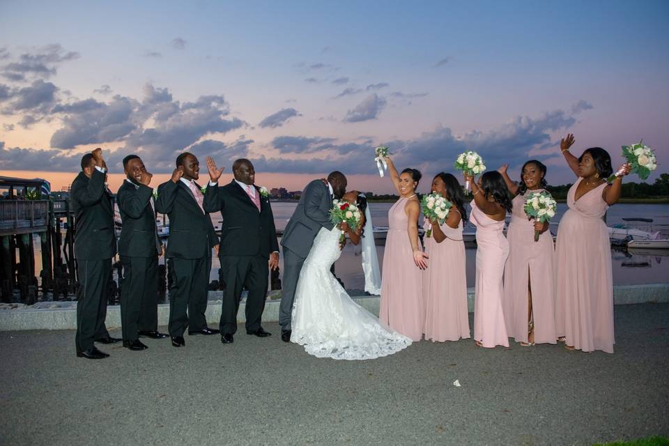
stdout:
{"type": "Polygon", "coordinates": [[[260,211],[235,180],[222,187],[217,184],[207,187],[204,210],[220,211],[223,217],[219,256],[260,255],[269,259],[272,252],[279,251],[272,206],[269,199],[260,194],[260,188],[254,187],[260,199],[260,211]]]}

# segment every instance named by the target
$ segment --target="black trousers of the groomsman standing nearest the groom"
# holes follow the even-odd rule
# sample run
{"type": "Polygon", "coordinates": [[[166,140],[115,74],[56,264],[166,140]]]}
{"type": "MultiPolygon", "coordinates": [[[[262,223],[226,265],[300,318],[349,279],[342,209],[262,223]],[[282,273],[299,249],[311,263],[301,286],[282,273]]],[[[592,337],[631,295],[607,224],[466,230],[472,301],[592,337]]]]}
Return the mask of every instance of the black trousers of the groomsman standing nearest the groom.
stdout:
{"type": "Polygon", "coordinates": [[[225,292],[221,309],[221,333],[237,331],[237,312],[242,288],[249,291],[246,298],[246,329],[256,331],[261,327],[265,310],[269,266],[264,256],[221,256],[221,269],[225,292]]]}

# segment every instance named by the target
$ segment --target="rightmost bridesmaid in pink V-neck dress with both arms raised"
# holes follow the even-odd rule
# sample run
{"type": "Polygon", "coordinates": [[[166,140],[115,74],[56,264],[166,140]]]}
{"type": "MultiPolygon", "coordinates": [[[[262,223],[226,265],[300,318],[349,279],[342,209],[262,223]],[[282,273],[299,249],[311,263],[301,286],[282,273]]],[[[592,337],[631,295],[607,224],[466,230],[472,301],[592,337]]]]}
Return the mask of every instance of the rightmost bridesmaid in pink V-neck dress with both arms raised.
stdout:
{"type": "Polygon", "coordinates": [[[562,155],[578,176],[567,193],[569,210],[557,228],[555,325],[569,350],[613,353],[613,274],[608,229],[602,217],[622,193],[624,164],[612,184],[611,157],[599,147],[580,157],[569,153],[574,135],[560,141],[562,155]]]}

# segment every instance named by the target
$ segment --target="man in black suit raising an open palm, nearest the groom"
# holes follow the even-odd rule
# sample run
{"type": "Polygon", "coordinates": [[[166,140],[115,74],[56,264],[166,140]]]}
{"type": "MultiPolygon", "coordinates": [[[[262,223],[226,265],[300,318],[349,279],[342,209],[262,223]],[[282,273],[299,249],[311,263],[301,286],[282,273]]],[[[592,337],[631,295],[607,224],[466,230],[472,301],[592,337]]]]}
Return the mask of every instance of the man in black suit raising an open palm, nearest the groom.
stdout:
{"type": "Polygon", "coordinates": [[[204,209],[220,211],[221,247],[218,252],[226,288],[221,309],[221,341],[231,344],[237,331],[237,311],[242,288],[246,299],[246,332],[258,337],[270,336],[261,325],[269,269],[279,266],[279,243],[268,194],[254,185],[256,171],[244,158],[232,165],[235,178],[218,187],[223,169],[207,157],[211,183],[204,194],[204,209]]]}

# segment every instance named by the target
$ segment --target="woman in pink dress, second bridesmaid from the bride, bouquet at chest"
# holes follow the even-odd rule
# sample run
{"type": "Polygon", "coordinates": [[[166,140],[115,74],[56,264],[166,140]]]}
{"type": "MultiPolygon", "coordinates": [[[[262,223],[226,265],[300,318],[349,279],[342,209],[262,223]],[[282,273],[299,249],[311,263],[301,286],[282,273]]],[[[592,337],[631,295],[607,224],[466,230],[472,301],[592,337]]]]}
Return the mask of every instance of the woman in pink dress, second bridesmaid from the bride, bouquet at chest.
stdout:
{"type": "Polygon", "coordinates": [[[463,220],[467,220],[462,186],[452,174],[444,172],[432,180],[431,192],[438,192],[450,201],[448,217],[443,224],[425,220],[425,252],[430,266],[423,271],[425,299],[425,339],[436,342],[468,339],[469,312],[467,308],[467,277],[465,273],[465,243],[462,239],[463,220]]]}

